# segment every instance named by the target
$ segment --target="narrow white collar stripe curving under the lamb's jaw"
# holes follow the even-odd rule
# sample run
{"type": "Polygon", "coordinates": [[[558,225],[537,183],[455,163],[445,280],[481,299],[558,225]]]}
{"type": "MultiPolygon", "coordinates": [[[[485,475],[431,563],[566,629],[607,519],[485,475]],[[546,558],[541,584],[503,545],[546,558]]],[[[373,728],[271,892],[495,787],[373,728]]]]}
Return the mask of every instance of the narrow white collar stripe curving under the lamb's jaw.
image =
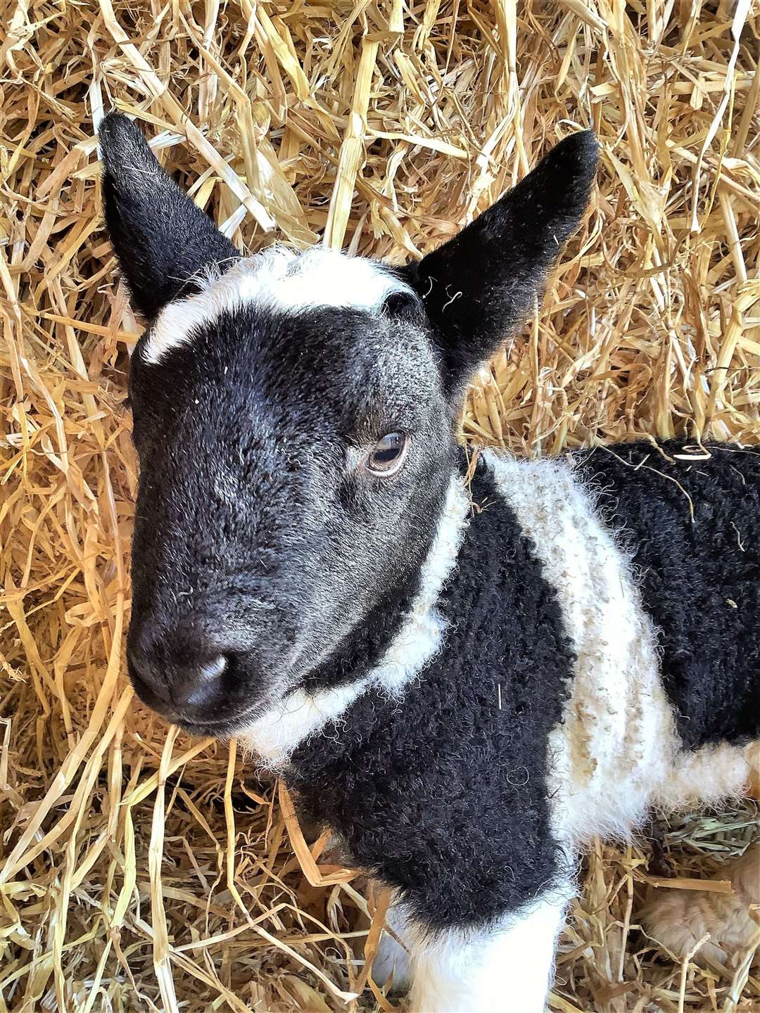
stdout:
{"type": "Polygon", "coordinates": [[[316,693],[298,689],[287,694],[282,703],[240,733],[243,747],[258,754],[269,766],[282,767],[299,743],[319,732],[328,721],[339,718],[366,690],[372,687],[383,690],[389,697],[401,695],[441,648],[446,622],[437,603],[456,566],[469,509],[461,480],[452,478],[433,545],[423,564],[416,598],[379,665],[364,679],[346,686],[316,693]]]}

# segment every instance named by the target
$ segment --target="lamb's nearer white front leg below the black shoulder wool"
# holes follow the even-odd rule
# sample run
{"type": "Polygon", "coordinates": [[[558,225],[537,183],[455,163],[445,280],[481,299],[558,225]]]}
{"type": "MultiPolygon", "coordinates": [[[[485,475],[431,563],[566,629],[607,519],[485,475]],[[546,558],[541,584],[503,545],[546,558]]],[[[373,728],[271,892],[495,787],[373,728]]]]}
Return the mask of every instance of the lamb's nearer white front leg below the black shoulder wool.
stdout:
{"type": "Polygon", "coordinates": [[[490,929],[407,936],[409,1013],[543,1013],[571,895],[552,890],[490,929]]]}

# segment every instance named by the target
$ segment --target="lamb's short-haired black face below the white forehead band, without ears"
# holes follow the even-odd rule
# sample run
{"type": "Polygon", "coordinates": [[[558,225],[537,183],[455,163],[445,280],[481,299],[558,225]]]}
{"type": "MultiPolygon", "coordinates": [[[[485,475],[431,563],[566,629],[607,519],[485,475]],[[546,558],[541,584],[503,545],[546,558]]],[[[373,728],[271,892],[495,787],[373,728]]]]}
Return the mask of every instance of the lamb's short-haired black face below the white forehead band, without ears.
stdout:
{"type": "Polygon", "coordinates": [[[422,306],[225,313],[132,366],[130,675],[193,730],[303,685],[427,553],[454,452],[422,306]]]}

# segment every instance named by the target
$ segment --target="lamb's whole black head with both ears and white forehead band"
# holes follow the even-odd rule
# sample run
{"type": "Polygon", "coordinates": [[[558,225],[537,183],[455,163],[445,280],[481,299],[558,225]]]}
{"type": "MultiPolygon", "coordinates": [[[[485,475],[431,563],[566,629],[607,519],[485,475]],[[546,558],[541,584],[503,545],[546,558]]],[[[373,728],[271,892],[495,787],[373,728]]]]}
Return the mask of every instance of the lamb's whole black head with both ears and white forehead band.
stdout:
{"type": "Polygon", "coordinates": [[[243,258],[130,121],[107,116],[99,140],[108,231],[148,323],[130,375],[130,674],[167,718],[229,733],[340,678],[352,631],[413,598],[467,380],[575,229],[596,142],[562,142],[391,268],[323,248],[243,258]]]}

